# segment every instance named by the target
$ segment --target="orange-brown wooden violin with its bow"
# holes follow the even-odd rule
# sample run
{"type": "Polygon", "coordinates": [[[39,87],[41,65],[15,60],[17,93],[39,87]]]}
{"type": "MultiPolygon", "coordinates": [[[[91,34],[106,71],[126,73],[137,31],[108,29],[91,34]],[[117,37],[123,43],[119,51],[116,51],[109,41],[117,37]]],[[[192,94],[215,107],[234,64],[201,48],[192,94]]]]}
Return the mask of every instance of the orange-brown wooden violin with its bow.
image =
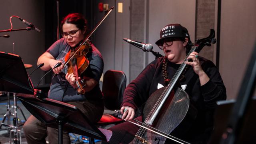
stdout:
{"type": "Polygon", "coordinates": [[[89,65],[89,60],[86,58],[86,54],[91,49],[91,42],[89,40],[92,33],[100,26],[100,24],[105,20],[105,18],[110,14],[110,12],[114,9],[114,7],[110,8],[105,16],[98,22],[95,28],[86,36],[83,42],[75,49],[70,50],[65,56],[65,63],[64,66],[68,66],[68,73],[74,74],[76,76],[76,85],[77,85],[77,94],[85,94],[84,87],[84,80],[78,80],[78,77],[86,70],[89,65]]]}

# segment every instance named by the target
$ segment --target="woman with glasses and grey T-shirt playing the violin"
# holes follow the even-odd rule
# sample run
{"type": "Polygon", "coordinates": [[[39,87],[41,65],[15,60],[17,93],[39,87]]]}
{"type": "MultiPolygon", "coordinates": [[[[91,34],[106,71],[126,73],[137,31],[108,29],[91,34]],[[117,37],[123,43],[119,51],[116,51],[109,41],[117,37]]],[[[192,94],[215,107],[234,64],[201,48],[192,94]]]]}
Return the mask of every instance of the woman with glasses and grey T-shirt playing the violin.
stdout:
{"type": "MultiPolygon", "coordinates": [[[[98,49],[90,43],[90,50],[86,54],[89,65],[78,77],[68,73],[68,66],[63,66],[66,54],[70,50],[76,50],[79,44],[86,38],[86,20],[82,14],[68,14],[61,22],[62,38],[57,40],[38,58],[38,64],[44,63],[42,70],[50,70],[58,62],[62,65],[54,68],[54,76],[48,92],[48,98],[66,102],[76,106],[92,123],[100,120],[104,104],[99,80],[103,72],[102,55],[98,49]],[[85,94],[78,94],[76,80],[84,80],[85,94]]],[[[50,144],[58,144],[58,130],[46,127],[34,116],[30,116],[23,126],[28,144],[46,144],[46,136],[50,144]]],[[[70,137],[63,132],[63,143],[70,144],[70,137]]]]}

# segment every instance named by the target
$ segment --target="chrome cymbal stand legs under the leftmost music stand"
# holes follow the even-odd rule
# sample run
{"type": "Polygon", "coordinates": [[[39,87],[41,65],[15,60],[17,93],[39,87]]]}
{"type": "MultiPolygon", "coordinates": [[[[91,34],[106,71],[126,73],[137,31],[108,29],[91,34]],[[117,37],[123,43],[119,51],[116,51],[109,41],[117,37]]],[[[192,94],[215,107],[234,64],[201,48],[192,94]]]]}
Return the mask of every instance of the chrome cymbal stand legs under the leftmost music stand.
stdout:
{"type": "MultiPolygon", "coordinates": [[[[7,95],[8,96],[8,95],[7,95]]],[[[9,97],[8,97],[9,98],[9,97]]],[[[9,101],[9,110],[6,112],[6,114],[4,115],[4,118],[3,118],[3,121],[1,123],[1,126],[7,126],[8,128],[10,128],[10,144],[12,142],[14,142],[14,144],[20,144],[21,143],[21,133],[20,133],[20,130],[18,129],[18,117],[17,117],[17,108],[20,110],[20,112],[22,113],[24,119],[26,120],[26,117],[24,115],[24,113],[22,112],[21,108],[19,106],[17,106],[17,102],[16,102],[16,93],[13,93],[13,101],[14,101],[14,106],[12,106],[10,108],[10,101],[9,101]],[[12,114],[11,113],[11,110],[14,110],[14,113],[12,114]],[[10,125],[10,115],[13,115],[14,118],[13,118],[13,126],[10,125]],[[6,117],[8,117],[8,124],[4,124],[4,121],[6,119],[6,117]],[[13,140],[12,140],[12,134],[13,134],[13,140]],[[18,140],[18,138],[20,140],[18,140]]],[[[7,104],[7,105],[8,105],[7,104]]],[[[8,109],[8,106],[7,106],[7,109],[8,109]]],[[[22,124],[23,125],[23,124],[22,124]]],[[[20,125],[21,126],[21,125],[20,125]]]]}

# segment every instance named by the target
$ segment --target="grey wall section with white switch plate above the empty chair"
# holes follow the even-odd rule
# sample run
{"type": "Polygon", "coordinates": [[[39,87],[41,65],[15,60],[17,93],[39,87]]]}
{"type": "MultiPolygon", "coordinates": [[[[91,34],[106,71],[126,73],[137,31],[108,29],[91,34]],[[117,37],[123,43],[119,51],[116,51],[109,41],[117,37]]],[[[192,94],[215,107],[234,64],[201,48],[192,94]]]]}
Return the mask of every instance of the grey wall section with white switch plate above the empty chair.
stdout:
{"type": "MultiPolygon", "coordinates": [[[[98,23],[105,12],[99,12],[98,3],[108,4],[112,12],[98,27],[92,42],[100,50],[104,60],[104,72],[110,69],[122,70],[129,80],[130,44],[123,38],[130,38],[130,0],[95,0],[94,21],[98,23]],[[123,4],[123,12],[118,12],[118,3],[123,4]]],[[[128,82],[127,82],[128,83],[128,82]]]]}

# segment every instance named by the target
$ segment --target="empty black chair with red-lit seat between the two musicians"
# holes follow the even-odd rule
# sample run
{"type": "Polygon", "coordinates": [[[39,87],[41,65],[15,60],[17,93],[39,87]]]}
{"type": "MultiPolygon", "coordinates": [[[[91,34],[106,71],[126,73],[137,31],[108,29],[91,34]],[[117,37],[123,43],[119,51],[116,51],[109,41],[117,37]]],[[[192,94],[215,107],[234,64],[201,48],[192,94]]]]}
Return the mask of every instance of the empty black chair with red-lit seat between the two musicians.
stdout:
{"type": "MultiPolygon", "coordinates": [[[[126,75],[122,71],[108,70],[103,76],[102,93],[104,106],[109,110],[119,110],[123,100],[123,93],[126,87],[126,75]]],[[[110,114],[103,114],[97,126],[119,124],[122,119],[110,114]]],[[[89,138],[89,144],[94,144],[94,139],[89,138]]]]}

